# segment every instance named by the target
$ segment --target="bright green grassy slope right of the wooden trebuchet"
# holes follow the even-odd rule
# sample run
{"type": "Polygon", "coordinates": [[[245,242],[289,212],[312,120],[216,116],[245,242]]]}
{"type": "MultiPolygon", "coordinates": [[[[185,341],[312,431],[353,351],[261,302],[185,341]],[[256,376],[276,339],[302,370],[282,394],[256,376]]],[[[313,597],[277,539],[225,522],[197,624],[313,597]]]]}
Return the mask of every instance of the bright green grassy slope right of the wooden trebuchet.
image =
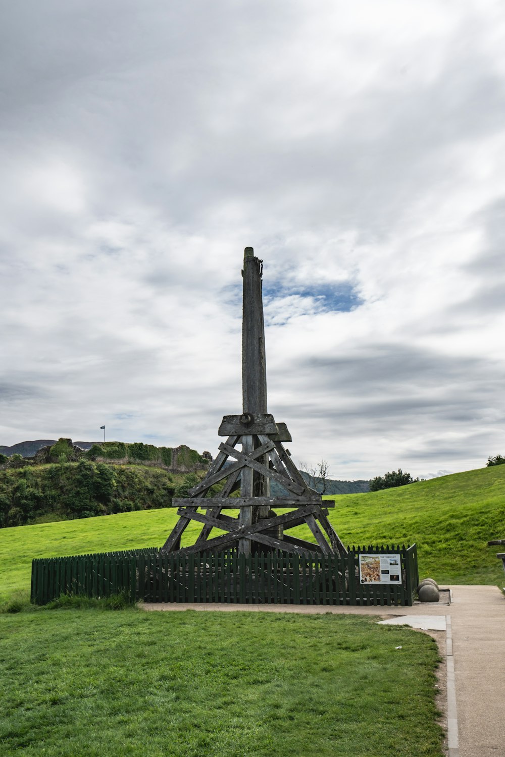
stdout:
{"type": "Polygon", "coordinates": [[[505,465],[332,499],[332,523],[345,544],[415,541],[422,576],[505,584],[500,548],[487,546],[505,538],[505,465]]]}

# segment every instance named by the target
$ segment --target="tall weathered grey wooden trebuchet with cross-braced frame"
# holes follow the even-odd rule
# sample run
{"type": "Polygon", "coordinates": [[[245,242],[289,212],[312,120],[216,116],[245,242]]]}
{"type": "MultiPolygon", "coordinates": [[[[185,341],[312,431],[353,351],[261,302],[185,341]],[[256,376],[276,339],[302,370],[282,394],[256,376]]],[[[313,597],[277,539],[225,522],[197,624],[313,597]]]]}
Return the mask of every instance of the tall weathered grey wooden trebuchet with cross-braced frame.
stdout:
{"type": "MultiPolygon", "coordinates": [[[[226,437],[207,475],[189,491],[188,498],[174,499],[179,521],[162,553],[181,554],[238,550],[285,552],[310,556],[347,554],[323,509],[321,495],[313,491],[291,460],[283,441],[291,441],[285,423],[276,423],[267,412],[267,370],[263,326],[262,261],[245,248],[242,321],[242,415],[224,416],[218,435],[226,437]],[[242,445],[242,450],[236,449],[242,445]],[[285,491],[270,496],[270,481],[285,491]],[[218,494],[210,488],[222,482],[218,494]],[[240,496],[232,494],[240,488],[240,496]],[[288,509],[278,515],[276,509],[288,509]],[[238,517],[223,514],[238,509],[238,517]],[[201,512],[204,510],[205,512],[201,512]],[[181,537],[191,522],[202,525],[195,544],[181,547],[181,537]],[[306,524],[314,542],[285,533],[306,524]],[[214,534],[213,535],[213,530],[214,534]],[[218,534],[217,531],[224,531],[218,534]]],[[[333,503],[325,502],[326,507],[333,503]]]]}

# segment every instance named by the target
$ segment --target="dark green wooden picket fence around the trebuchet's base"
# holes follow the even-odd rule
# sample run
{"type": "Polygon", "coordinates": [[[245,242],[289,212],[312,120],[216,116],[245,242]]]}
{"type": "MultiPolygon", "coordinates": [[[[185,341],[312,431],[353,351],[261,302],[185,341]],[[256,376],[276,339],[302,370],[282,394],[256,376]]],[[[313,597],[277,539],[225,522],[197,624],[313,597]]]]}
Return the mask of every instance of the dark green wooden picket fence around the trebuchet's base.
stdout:
{"type": "Polygon", "coordinates": [[[338,557],[236,552],[161,555],[157,549],[34,559],[32,602],[61,594],[145,602],[294,605],[411,605],[419,584],[416,545],[352,547],[338,557]],[[401,556],[401,584],[360,584],[358,555],[401,556]]]}

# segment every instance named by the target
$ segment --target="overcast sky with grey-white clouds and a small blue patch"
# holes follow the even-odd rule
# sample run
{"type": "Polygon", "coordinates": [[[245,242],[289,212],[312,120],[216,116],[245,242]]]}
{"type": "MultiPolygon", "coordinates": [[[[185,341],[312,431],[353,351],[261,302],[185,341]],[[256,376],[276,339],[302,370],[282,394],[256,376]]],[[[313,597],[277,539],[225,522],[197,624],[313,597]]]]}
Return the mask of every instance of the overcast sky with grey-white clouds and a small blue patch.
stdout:
{"type": "Polygon", "coordinates": [[[0,8],[0,444],[215,455],[251,245],[295,462],[505,453],[501,0],[0,8]]]}

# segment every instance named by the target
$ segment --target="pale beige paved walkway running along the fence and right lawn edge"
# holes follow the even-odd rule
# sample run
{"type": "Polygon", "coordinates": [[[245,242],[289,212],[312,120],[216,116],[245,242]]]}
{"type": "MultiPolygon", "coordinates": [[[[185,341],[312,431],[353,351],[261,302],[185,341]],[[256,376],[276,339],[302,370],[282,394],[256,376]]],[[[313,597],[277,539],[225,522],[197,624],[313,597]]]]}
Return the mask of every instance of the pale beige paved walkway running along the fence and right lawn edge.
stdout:
{"type": "Polygon", "coordinates": [[[447,630],[447,721],[450,757],[505,757],[505,597],[495,586],[452,586],[450,605],[332,607],[295,605],[154,604],[145,609],[230,612],[344,612],[382,618],[419,616],[411,625],[447,630]],[[454,696],[455,690],[455,696],[454,696]],[[451,701],[452,692],[452,701],[451,701]],[[455,699],[455,701],[454,701],[455,699]]]}

